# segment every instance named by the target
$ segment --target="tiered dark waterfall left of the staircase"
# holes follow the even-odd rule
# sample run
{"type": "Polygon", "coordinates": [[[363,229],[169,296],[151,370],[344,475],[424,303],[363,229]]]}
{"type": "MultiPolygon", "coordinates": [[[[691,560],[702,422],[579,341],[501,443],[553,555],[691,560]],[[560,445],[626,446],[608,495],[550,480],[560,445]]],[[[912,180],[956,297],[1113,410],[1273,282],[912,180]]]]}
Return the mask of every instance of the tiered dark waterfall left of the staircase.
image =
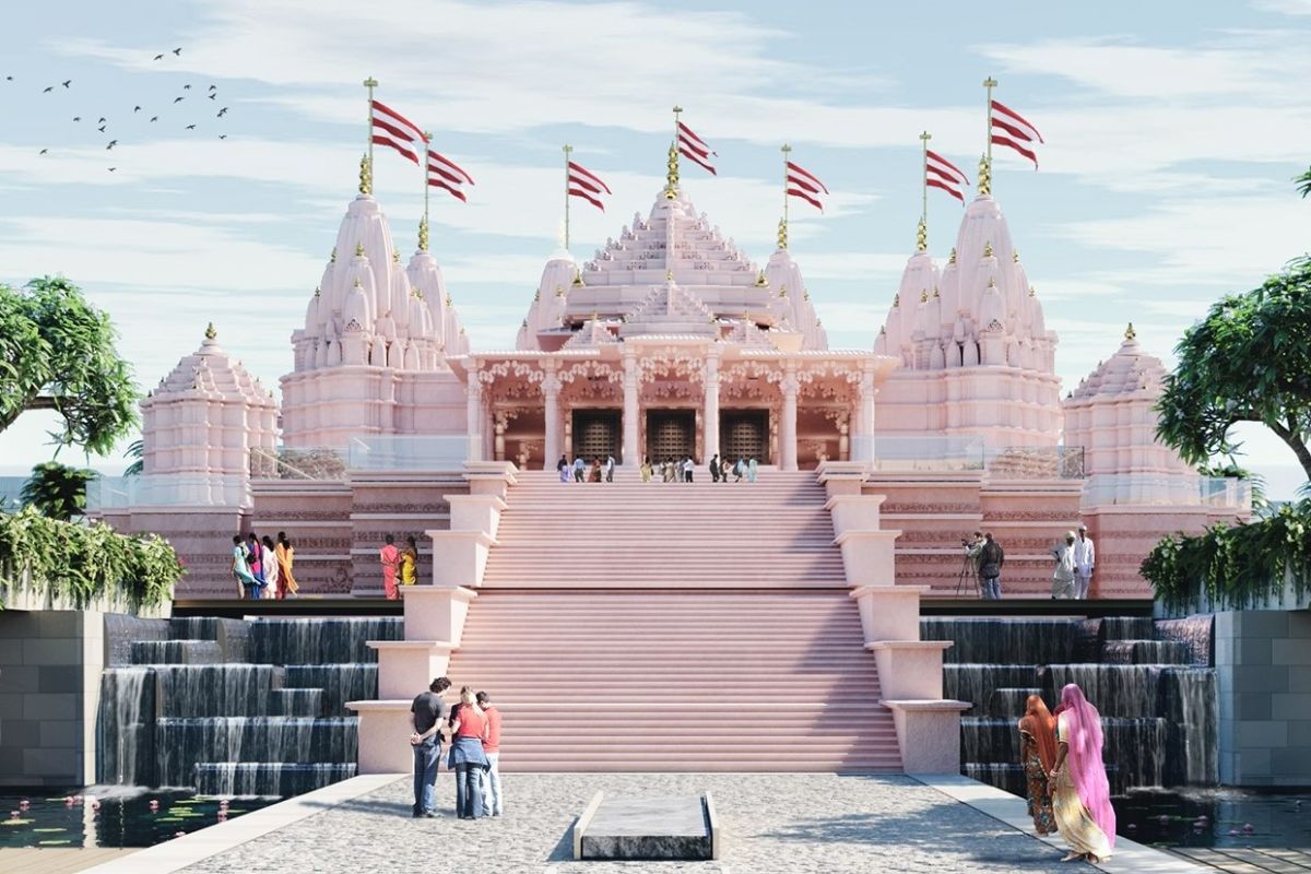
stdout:
{"type": "Polygon", "coordinates": [[[148,638],[101,677],[100,782],[287,797],[354,776],[345,702],[376,697],[366,642],[400,639],[401,620],[160,622],[128,629],[148,638]]]}

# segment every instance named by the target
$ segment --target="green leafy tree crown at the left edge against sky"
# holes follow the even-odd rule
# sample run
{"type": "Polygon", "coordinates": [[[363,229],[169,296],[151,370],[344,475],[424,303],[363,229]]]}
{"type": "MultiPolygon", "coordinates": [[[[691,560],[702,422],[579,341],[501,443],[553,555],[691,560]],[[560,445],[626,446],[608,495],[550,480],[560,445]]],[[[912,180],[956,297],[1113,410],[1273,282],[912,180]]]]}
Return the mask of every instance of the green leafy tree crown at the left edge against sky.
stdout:
{"type": "Polygon", "coordinates": [[[136,389],[115,339],[109,316],[67,279],[0,284],[0,431],[26,410],[54,410],[58,447],[108,453],[136,425],[136,389]]]}

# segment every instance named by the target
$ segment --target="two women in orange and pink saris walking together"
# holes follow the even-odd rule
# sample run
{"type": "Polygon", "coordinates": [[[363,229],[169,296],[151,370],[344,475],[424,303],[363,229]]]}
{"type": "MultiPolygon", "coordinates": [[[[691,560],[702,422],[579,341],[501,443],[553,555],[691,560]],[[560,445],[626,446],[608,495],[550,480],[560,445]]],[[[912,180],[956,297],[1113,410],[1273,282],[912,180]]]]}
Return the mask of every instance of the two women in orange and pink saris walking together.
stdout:
{"type": "Polygon", "coordinates": [[[1076,858],[1100,862],[1116,845],[1116,810],[1101,760],[1101,714],[1074,683],[1061,689],[1055,713],[1030,694],[1020,718],[1029,815],[1038,835],[1059,832],[1076,858]]]}

